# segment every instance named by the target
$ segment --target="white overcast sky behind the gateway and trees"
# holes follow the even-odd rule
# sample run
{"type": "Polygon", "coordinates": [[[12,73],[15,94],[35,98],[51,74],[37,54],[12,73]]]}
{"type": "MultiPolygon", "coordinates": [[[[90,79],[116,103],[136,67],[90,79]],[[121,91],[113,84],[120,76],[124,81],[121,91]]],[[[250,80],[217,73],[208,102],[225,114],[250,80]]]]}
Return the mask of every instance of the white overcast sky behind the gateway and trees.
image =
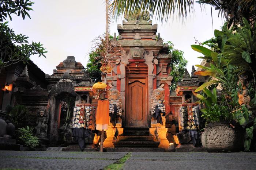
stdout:
{"type": "MultiPolygon", "coordinates": [[[[53,69],[67,58],[75,56],[77,62],[84,67],[91,49],[91,41],[105,31],[105,1],[103,0],[33,0],[29,12],[31,19],[12,15],[9,26],[16,34],[29,36],[29,41],[40,42],[47,49],[46,58],[32,56],[31,60],[45,73],[52,74],[53,69]]],[[[184,51],[188,60],[187,69],[191,72],[192,65],[200,64],[200,53],[193,51],[195,37],[200,42],[214,36],[214,30],[220,29],[222,20],[218,19],[218,11],[212,8],[213,26],[211,23],[211,8],[206,6],[201,11],[200,5],[195,3],[195,13],[188,16],[185,23],[179,19],[158,23],[158,32],[165,41],[172,41],[174,48],[184,51]]],[[[123,18],[112,22],[110,32],[117,33],[117,24],[123,18]]],[[[157,23],[153,18],[153,24],[157,23]]],[[[118,35],[118,33],[117,33],[118,35]]]]}

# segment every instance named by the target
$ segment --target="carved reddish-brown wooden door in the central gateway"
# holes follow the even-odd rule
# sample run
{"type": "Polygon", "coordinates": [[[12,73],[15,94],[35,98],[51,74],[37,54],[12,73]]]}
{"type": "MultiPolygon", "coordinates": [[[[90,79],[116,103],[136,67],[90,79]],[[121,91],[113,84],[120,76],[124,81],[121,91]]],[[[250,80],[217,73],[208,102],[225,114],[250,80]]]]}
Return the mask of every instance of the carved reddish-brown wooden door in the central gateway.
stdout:
{"type": "Polygon", "coordinates": [[[147,77],[126,78],[126,127],[148,127],[147,77]]]}

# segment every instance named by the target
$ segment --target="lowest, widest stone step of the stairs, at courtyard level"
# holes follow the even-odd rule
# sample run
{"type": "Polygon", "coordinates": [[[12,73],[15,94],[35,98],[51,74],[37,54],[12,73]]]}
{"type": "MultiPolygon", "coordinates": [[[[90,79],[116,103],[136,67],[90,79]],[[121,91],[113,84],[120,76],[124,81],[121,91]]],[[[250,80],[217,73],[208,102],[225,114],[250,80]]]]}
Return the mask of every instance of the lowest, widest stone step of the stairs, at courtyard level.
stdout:
{"type": "Polygon", "coordinates": [[[107,152],[164,152],[164,148],[137,148],[137,147],[118,147],[118,148],[105,148],[107,152]]]}

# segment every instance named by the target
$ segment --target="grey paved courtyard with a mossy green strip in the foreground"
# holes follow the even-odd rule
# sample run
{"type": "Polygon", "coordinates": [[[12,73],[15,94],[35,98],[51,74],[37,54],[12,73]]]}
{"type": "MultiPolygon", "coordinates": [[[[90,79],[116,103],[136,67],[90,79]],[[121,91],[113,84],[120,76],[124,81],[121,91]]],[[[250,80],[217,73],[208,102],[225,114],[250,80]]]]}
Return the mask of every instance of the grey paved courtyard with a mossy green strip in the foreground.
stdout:
{"type": "Polygon", "coordinates": [[[0,169],[255,170],[256,152],[0,151],[0,169]]]}

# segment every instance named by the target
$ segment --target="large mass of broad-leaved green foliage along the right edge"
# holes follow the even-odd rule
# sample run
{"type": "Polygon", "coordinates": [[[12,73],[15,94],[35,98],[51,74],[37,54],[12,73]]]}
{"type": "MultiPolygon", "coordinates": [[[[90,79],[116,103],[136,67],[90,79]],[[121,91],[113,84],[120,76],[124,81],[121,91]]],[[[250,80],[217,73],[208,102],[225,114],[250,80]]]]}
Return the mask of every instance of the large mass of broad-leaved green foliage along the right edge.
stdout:
{"type": "MultiPolygon", "coordinates": [[[[231,30],[223,27],[222,31],[214,31],[214,41],[218,44],[218,48],[215,51],[218,53],[200,45],[192,45],[191,47],[204,55],[204,57],[199,58],[210,62],[210,67],[196,65],[202,68],[202,71],[195,74],[212,77],[210,81],[205,82],[195,92],[204,90],[204,88],[212,84],[217,84],[222,88],[223,96],[221,100],[226,102],[224,105],[217,103],[219,107],[224,106],[221,112],[222,117],[225,117],[226,110],[228,110],[233,114],[233,119],[242,125],[245,129],[244,148],[245,151],[248,151],[253,139],[253,129],[256,128],[255,112],[252,112],[256,107],[256,68],[254,66],[256,63],[256,24],[251,27],[245,18],[242,18],[242,20],[244,25],[242,27],[234,27],[231,30]],[[242,90],[242,86],[241,82],[238,82],[237,74],[248,75],[248,93],[252,99],[249,103],[250,106],[238,104],[238,91],[242,90]],[[226,107],[228,108],[226,109],[226,107]]],[[[195,95],[203,100],[202,95],[195,95]]],[[[204,103],[207,105],[206,100],[204,103]]],[[[211,106],[207,105],[207,108],[203,109],[202,112],[210,114],[211,110],[209,109],[211,109],[211,106]]],[[[217,108],[215,109],[218,111],[217,108]]]]}

